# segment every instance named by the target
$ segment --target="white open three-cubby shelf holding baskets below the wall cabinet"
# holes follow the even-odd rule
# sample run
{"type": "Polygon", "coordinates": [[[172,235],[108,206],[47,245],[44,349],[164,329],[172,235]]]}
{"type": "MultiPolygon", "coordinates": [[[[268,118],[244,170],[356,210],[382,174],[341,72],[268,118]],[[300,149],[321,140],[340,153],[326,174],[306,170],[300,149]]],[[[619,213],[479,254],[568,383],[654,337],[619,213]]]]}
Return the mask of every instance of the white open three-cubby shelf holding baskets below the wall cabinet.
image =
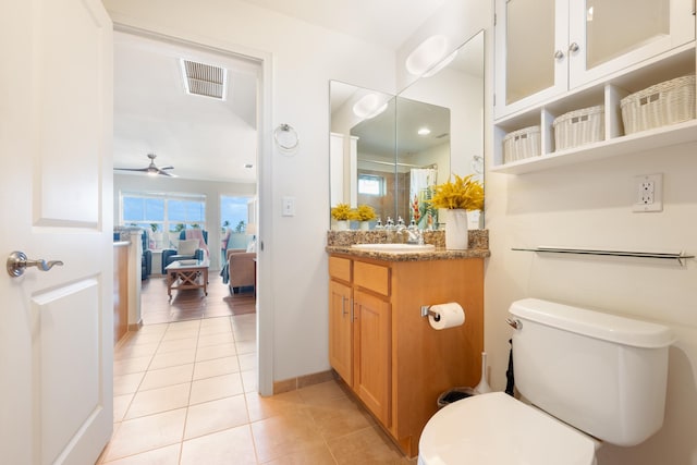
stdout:
{"type": "Polygon", "coordinates": [[[695,73],[695,41],[650,60],[634,63],[612,75],[587,83],[514,114],[494,120],[491,172],[524,174],[697,142],[697,120],[625,135],[621,100],[651,85],[695,73]],[[603,139],[567,149],[555,149],[553,122],[574,110],[603,105],[603,139]],[[504,162],[505,136],[523,127],[540,126],[541,155],[504,162]]]}

